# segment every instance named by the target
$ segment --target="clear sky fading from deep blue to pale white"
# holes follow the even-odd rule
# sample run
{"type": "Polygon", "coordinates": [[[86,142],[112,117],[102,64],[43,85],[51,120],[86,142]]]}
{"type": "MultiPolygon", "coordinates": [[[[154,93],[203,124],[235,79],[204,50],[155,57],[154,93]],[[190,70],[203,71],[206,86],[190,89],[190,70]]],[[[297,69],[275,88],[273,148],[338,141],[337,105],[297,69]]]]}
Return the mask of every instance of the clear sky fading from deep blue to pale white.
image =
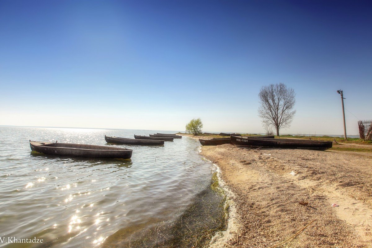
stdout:
{"type": "MultiPolygon", "coordinates": [[[[0,125],[263,132],[258,92],[285,83],[282,133],[342,134],[340,96],[372,119],[368,1],[0,0],[0,125]]],[[[346,111],[347,132],[357,118],[346,111]]]]}

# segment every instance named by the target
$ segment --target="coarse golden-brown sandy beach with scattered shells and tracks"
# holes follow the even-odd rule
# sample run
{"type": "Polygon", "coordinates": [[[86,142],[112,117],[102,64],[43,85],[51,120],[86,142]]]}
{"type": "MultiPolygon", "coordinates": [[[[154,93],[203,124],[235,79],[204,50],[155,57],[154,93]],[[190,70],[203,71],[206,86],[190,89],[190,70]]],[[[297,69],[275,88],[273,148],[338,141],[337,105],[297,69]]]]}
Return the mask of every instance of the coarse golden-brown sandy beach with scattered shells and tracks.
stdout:
{"type": "Polygon", "coordinates": [[[237,231],[224,247],[372,247],[368,152],[225,144],[202,146],[201,155],[234,193],[237,231]]]}

